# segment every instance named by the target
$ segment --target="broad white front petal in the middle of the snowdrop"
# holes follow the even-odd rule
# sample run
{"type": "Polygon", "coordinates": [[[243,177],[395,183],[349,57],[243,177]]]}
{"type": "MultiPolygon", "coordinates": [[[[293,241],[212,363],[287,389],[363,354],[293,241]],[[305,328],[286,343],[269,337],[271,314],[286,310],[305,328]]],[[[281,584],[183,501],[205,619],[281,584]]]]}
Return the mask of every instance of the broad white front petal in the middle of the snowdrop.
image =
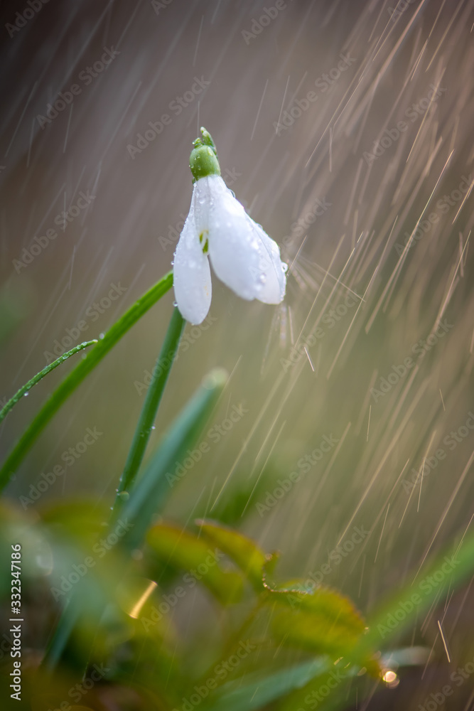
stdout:
{"type": "Polygon", "coordinates": [[[264,276],[261,240],[244,206],[220,176],[200,178],[194,197],[198,230],[208,230],[209,257],[217,277],[242,299],[257,299],[264,276]]]}

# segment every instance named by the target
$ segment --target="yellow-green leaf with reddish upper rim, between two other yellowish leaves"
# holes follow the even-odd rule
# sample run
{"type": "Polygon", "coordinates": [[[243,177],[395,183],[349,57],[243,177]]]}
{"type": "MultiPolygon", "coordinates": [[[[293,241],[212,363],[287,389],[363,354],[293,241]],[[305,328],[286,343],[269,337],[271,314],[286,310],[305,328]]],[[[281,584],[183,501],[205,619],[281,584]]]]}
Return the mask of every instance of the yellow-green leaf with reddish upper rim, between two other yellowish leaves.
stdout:
{"type": "Polygon", "coordinates": [[[222,552],[228,555],[248,577],[257,592],[264,589],[262,582],[263,568],[269,556],[260,550],[257,544],[239,531],[228,528],[209,519],[197,520],[203,535],[222,552]]]}

